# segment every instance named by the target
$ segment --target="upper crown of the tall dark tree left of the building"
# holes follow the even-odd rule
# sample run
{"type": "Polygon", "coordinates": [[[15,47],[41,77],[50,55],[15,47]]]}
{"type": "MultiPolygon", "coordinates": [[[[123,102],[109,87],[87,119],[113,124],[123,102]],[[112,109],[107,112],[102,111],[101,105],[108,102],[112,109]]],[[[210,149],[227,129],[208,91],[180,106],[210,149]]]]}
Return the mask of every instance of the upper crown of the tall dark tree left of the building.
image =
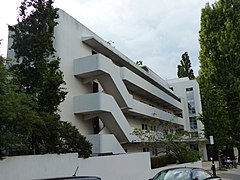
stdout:
{"type": "Polygon", "coordinates": [[[9,26],[18,64],[12,69],[15,82],[38,103],[38,112],[54,114],[67,94],[60,59],[53,47],[55,20],[58,18],[53,1],[24,0],[19,7],[18,24],[9,26]],[[29,14],[29,8],[33,10],[29,14]]]}

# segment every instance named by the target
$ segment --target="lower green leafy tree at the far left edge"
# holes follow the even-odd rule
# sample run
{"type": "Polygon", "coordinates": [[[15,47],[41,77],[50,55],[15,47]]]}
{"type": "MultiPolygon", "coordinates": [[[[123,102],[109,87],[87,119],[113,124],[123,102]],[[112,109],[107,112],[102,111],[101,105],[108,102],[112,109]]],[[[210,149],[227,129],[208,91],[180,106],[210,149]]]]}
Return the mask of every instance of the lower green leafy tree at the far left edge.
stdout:
{"type": "Polygon", "coordinates": [[[34,111],[36,104],[29,95],[16,93],[9,60],[0,56],[0,158],[3,155],[28,154],[30,138],[43,125],[34,111]]]}

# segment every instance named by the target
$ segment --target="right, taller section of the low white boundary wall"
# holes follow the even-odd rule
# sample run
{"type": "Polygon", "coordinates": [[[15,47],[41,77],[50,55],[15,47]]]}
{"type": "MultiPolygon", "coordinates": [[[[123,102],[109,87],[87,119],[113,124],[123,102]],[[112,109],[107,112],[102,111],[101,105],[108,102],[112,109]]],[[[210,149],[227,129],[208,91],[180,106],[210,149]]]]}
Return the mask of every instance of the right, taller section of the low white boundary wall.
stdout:
{"type": "Polygon", "coordinates": [[[97,175],[103,180],[146,180],[151,177],[149,153],[80,159],[78,175],[97,175]],[[82,166],[81,166],[82,165],[82,166]]]}

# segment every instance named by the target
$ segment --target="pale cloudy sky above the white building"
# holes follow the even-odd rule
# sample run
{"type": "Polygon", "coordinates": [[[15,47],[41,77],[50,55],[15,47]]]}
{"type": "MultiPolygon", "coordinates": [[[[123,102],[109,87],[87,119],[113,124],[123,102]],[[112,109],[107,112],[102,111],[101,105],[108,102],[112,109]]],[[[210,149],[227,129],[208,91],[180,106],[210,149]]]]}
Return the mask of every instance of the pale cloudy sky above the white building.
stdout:
{"type": "MultiPolygon", "coordinates": [[[[161,78],[177,78],[181,55],[188,52],[199,70],[201,9],[215,0],[55,0],[79,22],[136,62],[141,60],[161,78]]],[[[17,22],[21,0],[0,6],[0,54],[6,56],[7,25],[17,22]]]]}

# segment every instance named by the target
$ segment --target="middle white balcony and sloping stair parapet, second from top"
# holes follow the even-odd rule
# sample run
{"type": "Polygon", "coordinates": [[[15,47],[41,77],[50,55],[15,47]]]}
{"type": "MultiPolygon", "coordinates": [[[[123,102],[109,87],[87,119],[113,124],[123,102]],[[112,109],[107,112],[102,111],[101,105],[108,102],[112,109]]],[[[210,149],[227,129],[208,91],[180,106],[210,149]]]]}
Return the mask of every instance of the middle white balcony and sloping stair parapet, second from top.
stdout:
{"type": "Polygon", "coordinates": [[[91,93],[74,98],[74,112],[84,114],[98,113],[102,122],[111,129],[121,143],[132,142],[130,127],[122,111],[118,108],[116,101],[112,96],[105,93],[91,93]],[[87,103],[88,102],[88,103],[87,103]],[[89,103],[94,102],[94,103],[89,103]],[[87,104],[87,106],[86,106],[87,104]],[[85,105],[85,106],[84,106],[85,105]]]}

